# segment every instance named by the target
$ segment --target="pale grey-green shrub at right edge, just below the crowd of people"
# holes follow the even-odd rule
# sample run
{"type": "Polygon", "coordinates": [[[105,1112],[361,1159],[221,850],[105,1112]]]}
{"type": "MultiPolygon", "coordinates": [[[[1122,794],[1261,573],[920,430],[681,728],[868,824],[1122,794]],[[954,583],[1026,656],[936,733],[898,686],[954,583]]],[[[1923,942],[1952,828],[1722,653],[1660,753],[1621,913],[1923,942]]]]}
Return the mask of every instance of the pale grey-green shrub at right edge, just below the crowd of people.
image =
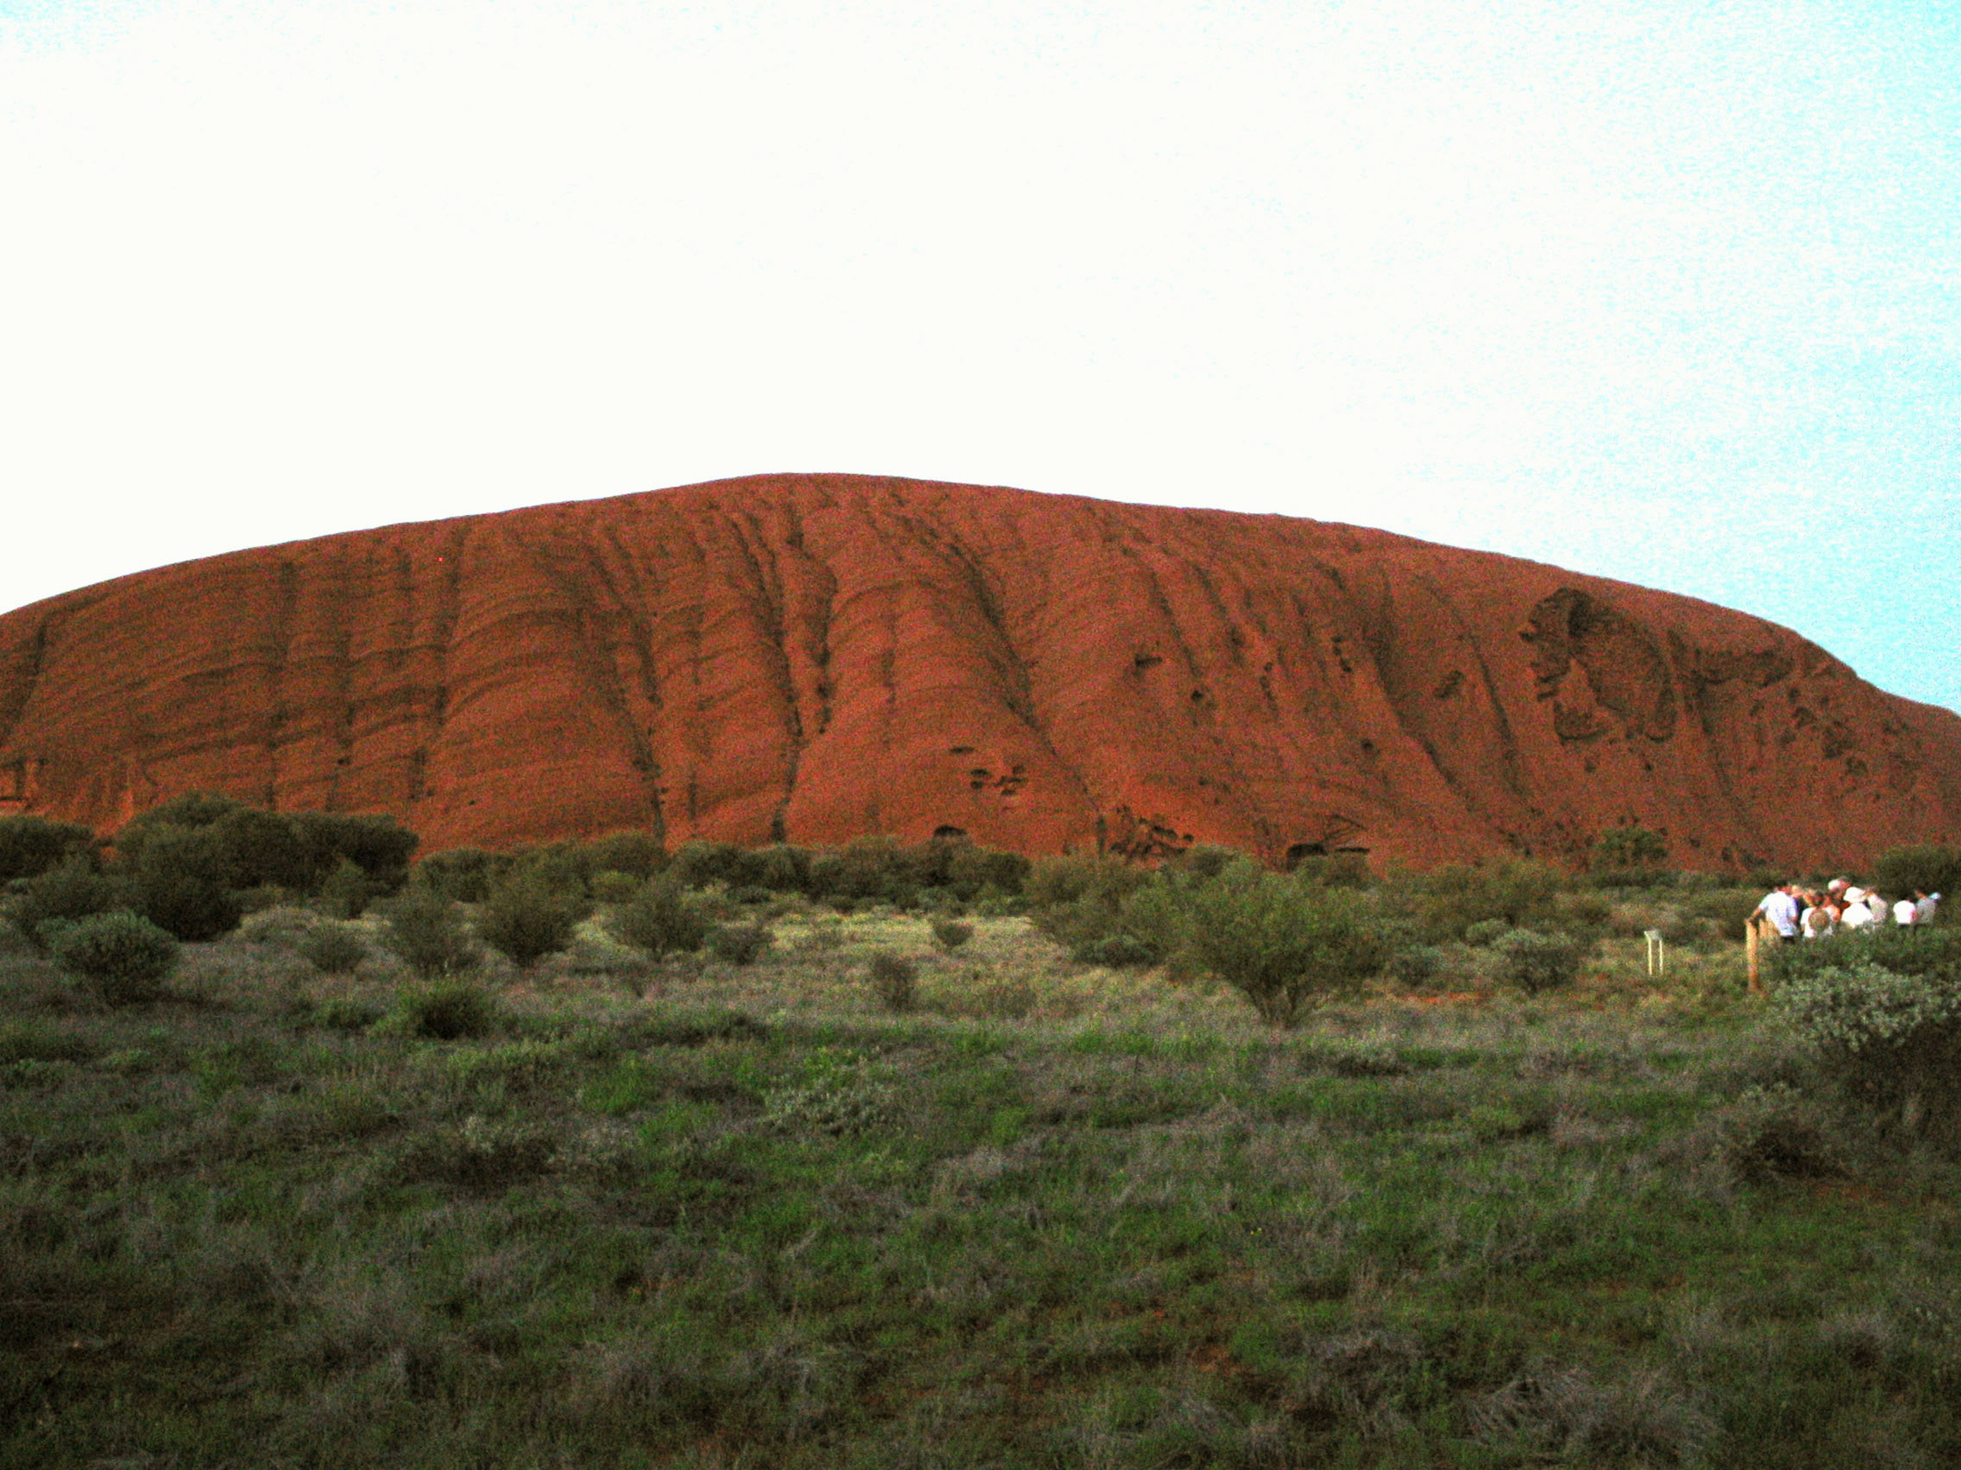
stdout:
{"type": "Polygon", "coordinates": [[[1788,980],[1777,1007],[1881,1117],[1945,1129],[1961,1111],[1961,984],[1853,962],[1788,980]]]}

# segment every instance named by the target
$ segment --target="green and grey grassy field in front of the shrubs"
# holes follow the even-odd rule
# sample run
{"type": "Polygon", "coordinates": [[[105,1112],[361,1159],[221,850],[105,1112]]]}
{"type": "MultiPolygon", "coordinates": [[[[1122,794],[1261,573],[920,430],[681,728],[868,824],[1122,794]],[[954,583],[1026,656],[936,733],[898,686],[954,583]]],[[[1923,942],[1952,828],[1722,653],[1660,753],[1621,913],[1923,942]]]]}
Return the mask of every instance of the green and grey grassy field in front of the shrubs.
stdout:
{"type": "Polygon", "coordinates": [[[451,1041],[277,923],[122,1009],[6,951],[0,1464],[1961,1464],[1955,1172],[1734,949],[1277,1031],[977,931],[588,929],[451,1041]]]}

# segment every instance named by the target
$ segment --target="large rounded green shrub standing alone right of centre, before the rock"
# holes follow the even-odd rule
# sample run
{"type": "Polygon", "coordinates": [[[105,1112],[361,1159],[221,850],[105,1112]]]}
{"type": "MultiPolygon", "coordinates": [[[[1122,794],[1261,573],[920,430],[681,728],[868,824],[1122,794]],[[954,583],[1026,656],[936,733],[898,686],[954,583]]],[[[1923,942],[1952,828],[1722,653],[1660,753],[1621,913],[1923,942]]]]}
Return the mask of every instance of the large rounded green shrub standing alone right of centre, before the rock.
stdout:
{"type": "Polygon", "coordinates": [[[1275,1025],[1298,1023],[1316,1000],[1353,994],[1384,949],[1361,894],[1306,890],[1245,860],[1192,890],[1190,943],[1275,1025]]]}

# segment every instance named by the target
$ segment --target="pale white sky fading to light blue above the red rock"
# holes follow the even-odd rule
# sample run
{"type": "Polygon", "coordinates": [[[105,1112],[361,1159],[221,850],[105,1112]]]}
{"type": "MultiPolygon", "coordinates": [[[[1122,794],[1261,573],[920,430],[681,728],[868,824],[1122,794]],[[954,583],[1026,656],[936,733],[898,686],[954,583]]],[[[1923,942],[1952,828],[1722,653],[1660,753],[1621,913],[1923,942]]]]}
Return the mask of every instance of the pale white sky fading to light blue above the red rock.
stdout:
{"type": "Polygon", "coordinates": [[[1961,6],[0,0],[0,608],[767,470],[1381,525],[1961,708],[1961,6]]]}

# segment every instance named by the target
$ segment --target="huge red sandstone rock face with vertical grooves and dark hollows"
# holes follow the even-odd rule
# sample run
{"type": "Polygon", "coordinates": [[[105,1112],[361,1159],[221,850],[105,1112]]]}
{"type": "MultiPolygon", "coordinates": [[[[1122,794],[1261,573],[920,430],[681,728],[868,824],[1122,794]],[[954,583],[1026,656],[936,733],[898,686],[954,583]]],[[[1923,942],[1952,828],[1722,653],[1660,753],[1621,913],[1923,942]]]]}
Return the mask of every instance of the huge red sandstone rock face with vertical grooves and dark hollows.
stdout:
{"type": "Polygon", "coordinates": [[[0,615],[0,811],[1281,862],[1853,864],[1961,717],[1688,598],[1383,531],[847,474],[243,551],[0,615]]]}

